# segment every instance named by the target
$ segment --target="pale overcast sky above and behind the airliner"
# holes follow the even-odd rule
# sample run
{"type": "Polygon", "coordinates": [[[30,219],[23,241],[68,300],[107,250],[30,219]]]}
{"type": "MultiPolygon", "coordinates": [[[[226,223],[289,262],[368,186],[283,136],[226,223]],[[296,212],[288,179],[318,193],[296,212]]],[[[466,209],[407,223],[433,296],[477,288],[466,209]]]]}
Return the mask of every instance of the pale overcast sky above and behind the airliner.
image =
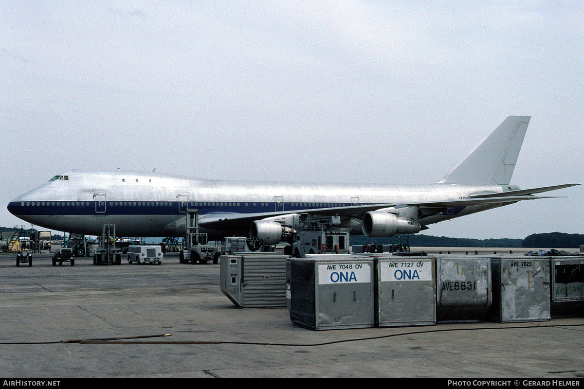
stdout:
{"type": "MultiPolygon", "coordinates": [[[[581,1],[0,4],[0,226],[68,169],[433,183],[507,115],[512,183],[584,183],[581,1]]],[[[584,233],[583,193],[423,233],[584,233]]]]}

